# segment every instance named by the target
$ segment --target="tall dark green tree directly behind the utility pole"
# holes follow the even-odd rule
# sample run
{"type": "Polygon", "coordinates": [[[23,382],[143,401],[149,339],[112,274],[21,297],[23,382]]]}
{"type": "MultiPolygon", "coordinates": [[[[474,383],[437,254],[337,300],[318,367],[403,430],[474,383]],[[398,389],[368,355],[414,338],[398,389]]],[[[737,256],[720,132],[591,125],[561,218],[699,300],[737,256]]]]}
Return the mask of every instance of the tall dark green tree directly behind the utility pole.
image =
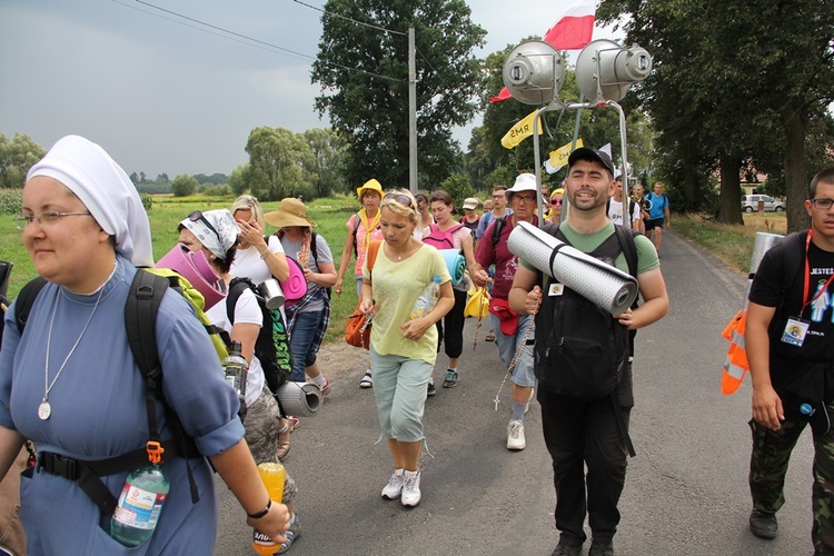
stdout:
{"type": "Polygon", "coordinates": [[[348,186],[376,177],[385,187],[408,187],[409,27],[417,49],[419,182],[424,189],[439,183],[458,166],[451,129],[476,110],[480,63],[471,51],[486,31],[471,22],[464,0],[328,0],[325,10],[344,18],[322,17],[312,64],[322,92],[316,109],[348,141],[348,186]]]}

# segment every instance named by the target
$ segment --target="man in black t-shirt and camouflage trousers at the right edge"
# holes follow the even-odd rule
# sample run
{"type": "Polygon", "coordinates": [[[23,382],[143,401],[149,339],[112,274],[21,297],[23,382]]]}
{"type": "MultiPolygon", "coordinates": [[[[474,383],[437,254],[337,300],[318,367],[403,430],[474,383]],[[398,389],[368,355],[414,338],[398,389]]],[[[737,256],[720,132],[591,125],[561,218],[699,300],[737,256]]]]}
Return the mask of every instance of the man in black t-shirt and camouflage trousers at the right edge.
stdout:
{"type": "Polygon", "coordinates": [[[811,423],[811,536],[814,554],[822,555],[834,554],[834,168],[814,176],[808,193],[811,228],[787,236],[765,254],[748,296],[749,527],[758,537],[776,536],[791,451],[811,423]]]}

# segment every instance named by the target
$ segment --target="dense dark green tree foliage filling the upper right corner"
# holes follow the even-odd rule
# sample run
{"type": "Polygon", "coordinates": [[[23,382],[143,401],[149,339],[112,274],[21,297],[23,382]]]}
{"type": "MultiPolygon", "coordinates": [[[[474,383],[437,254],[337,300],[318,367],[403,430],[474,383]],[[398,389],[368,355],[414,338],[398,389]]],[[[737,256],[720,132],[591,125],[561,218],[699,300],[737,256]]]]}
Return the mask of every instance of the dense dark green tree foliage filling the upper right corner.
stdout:
{"type": "Polygon", "coordinates": [[[602,21],[620,16],[626,41],[655,57],[644,100],[679,175],[719,169],[718,219],[741,221],[744,162],[773,159],[771,138],[781,136],[787,227],[805,227],[806,138],[834,99],[834,2],[605,0],[597,11],[602,21]]]}

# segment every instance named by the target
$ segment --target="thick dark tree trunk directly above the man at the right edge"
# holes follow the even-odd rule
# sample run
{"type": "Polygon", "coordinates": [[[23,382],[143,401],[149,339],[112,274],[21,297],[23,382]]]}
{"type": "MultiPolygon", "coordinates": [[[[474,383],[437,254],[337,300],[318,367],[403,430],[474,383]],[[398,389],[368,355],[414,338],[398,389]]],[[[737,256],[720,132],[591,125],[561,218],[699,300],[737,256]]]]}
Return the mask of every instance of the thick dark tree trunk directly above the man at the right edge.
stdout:
{"type": "Polygon", "coordinates": [[[788,100],[780,110],[785,129],[785,191],[787,192],[787,232],[804,230],[811,225],[805,210],[808,197],[807,169],[805,166],[805,135],[808,122],[800,105],[788,100]]]}

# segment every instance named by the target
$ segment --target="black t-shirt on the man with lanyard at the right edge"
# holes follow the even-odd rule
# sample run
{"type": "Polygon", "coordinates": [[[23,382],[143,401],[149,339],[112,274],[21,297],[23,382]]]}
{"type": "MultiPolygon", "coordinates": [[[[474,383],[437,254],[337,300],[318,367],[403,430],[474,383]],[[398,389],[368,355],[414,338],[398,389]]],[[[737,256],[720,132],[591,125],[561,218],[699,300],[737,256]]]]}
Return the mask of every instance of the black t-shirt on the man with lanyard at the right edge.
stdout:
{"type": "MultiPolygon", "coordinates": [[[[771,377],[774,386],[783,381],[783,376],[818,364],[828,369],[830,377],[834,375],[834,285],[828,285],[826,291],[802,311],[802,320],[810,325],[802,347],[782,341],[787,319],[798,318],[804,305],[805,237],[804,232],[800,235],[802,248],[798,257],[793,257],[798,261],[792,265],[793,268],[786,268],[790,257],[784,250],[791,246],[785,246],[784,241],[765,254],[748,295],[748,299],[755,304],[776,308],[770,327],[771,377]]],[[[793,248],[796,248],[796,244],[793,248]]],[[[812,242],[808,268],[810,299],[834,274],[834,252],[824,251],[812,242]]],[[[834,385],[834,380],[828,384],[834,385]]]]}

